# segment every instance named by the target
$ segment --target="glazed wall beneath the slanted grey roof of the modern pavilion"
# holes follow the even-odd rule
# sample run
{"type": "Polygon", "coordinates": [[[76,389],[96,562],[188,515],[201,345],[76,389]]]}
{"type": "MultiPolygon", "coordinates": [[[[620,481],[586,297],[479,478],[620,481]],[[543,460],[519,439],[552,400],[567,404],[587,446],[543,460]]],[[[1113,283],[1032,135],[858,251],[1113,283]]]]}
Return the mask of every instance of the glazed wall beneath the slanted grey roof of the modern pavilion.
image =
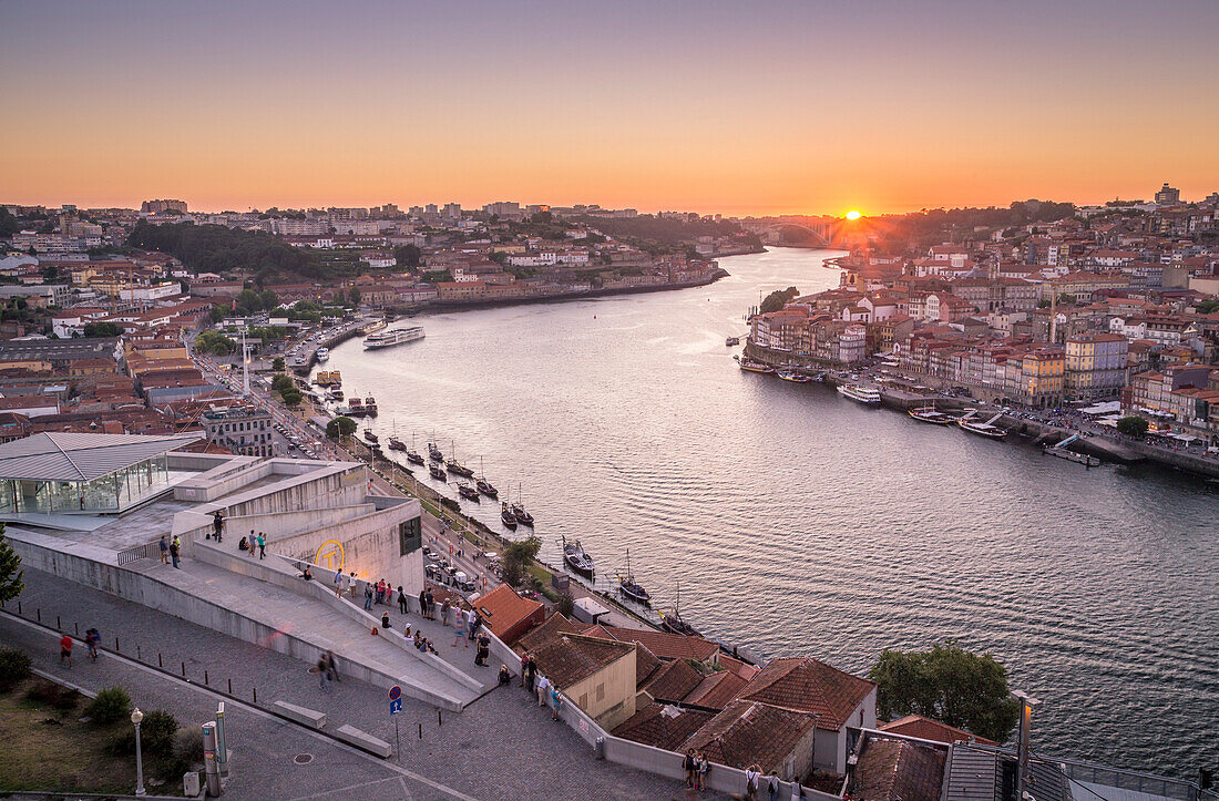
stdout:
{"type": "Polygon", "coordinates": [[[91,482],[0,479],[0,512],[116,512],[152,497],[194,474],[190,471],[171,469],[162,454],[91,482]]]}

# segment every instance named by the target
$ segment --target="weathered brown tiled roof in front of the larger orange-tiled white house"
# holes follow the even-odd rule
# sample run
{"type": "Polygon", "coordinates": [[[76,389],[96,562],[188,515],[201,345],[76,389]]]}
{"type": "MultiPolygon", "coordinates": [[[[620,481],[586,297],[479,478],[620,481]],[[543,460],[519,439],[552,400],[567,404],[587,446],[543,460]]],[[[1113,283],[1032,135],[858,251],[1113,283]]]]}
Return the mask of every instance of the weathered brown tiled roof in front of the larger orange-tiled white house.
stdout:
{"type": "Polygon", "coordinates": [[[800,740],[817,724],[812,714],[769,703],[735,701],[695,732],[678,751],[696,749],[712,762],[763,773],[779,771],[800,740]]]}

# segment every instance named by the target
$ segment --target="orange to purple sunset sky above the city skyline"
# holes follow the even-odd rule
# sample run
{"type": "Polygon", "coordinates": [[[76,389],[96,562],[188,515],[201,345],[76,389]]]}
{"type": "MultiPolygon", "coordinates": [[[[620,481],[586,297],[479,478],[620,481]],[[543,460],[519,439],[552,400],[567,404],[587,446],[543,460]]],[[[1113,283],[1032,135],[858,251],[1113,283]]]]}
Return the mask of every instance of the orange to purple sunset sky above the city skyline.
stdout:
{"type": "Polygon", "coordinates": [[[0,202],[1193,199],[1217,40],[1215,0],[0,1],[0,202]]]}

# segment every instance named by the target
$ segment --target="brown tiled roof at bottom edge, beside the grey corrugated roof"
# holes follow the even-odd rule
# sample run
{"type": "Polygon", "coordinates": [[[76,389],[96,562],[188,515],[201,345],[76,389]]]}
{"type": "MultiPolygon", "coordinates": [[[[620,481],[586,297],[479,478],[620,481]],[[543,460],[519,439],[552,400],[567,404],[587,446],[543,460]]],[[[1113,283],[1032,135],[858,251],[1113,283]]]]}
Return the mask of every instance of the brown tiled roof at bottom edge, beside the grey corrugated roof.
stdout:
{"type": "Polygon", "coordinates": [[[947,749],[870,735],[851,774],[857,801],[939,801],[947,749]]]}

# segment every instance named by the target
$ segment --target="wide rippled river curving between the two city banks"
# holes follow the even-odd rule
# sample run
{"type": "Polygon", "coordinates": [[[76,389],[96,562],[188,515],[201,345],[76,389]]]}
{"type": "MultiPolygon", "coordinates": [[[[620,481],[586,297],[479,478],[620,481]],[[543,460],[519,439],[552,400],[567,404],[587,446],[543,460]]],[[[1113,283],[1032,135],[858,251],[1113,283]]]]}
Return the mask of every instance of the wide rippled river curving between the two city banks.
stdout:
{"type": "MultiPolygon", "coordinates": [[[[328,367],[374,427],[524,490],[542,557],[579,538],[706,635],[864,674],[956,640],[1042,701],[1040,752],[1173,775],[1219,766],[1219,491],[1085,471],[736,369],[759,293],[837,284],[831,251],[722,258],[709,287],[422,317],[328,367]]],[[[401,323],[400,323],[401,324],[401,323]]],[[[456,496],[450,488],[450,494],[456,496]]],[[[499,506],[467,510],[499,529],[499,506]]]]}

